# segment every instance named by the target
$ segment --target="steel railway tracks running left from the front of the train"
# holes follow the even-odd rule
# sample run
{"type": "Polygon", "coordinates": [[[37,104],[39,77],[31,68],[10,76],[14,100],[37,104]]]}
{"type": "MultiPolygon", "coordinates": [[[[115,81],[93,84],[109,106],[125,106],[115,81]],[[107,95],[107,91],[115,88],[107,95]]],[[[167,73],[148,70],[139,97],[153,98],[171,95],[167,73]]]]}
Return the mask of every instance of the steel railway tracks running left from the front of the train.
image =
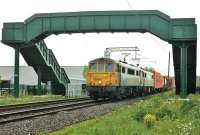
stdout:
{"type": "Polygon", "coordinates": [[[79,98],[71,100],[57,100],[49,102],[0,106],[0,124],[31,119],[33,117],[54,114],[60,111],[72,111],[102,103],[105,103],[105,101],[95,102],[89,98],[79,98]]]}

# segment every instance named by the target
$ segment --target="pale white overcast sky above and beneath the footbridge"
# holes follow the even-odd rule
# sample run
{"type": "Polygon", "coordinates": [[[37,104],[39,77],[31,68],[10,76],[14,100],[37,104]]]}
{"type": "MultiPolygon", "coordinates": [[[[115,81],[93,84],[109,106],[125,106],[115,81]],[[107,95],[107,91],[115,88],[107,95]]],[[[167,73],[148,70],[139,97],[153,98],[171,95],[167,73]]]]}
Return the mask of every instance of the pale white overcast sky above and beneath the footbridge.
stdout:
{"type": "MultiPolygon", "coordinates": [[[[171,18],[196,18],[200,25],[197,0],[1,0],[0,28],[3,22],[23,22],[35,13],[106,11],[106,10],[160,10],[171,18]]],[[[200,35],[200,32],[197,32],[200,35]]],[[[0,32],[1,37],[1,32],[0,32]]],[[[167,74],[168,53],[171,45],[150,33],[86,33],[51,35],[45,39],[62,66],[87,65],[88,61],[102,57],[107,47],[138,46],[140,54],[149,62],[141,66],[153,67],[163,75],[167,74]]],[[[200,75],[200,46],[197,41],[197,74],[200,75]]],[[[121,58],[113,53],[111,58],[121,58]]],[[[129,58],[130,59],[130,58],[129,58]]],[[[0,43],[0,66],[14,65],[14,49],[0,43]]],[[[20,65],[27,65],[20,56],[20,65]]],[[[170,75],[173,75],[171,59],[170,75]]]]}

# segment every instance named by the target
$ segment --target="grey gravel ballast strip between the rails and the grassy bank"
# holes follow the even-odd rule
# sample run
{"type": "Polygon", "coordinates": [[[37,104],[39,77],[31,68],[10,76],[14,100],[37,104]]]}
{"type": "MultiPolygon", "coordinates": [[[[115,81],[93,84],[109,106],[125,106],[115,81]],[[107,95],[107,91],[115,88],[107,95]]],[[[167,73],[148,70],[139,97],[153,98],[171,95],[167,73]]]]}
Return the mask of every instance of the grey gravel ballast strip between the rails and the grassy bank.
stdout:
{"type": "Polygon", "coordinates": [[[61,129],[66,125],[104,115],[111,112],[116,107],[133,103],[135,103],[135,99],[112,102],[70,112],[62,111],[54,115],[46,115],[30,120],[8,123],[0,125],[0,135],[37,135],[41,132],[50,132],[61,129]]]}

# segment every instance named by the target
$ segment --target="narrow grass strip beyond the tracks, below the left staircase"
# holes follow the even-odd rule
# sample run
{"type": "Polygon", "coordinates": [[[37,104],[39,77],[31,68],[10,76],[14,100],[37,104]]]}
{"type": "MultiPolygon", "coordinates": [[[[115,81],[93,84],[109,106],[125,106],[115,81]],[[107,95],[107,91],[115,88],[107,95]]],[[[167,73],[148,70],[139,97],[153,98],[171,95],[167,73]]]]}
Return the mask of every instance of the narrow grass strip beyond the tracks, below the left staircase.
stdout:
{"type": "Polygon", "coordinates": [[[21,96],[19,98],[15,98],[13,96],[0,96],[0,105],[23,104],[23,103],[30,103],[30,102],[58,100],[58,99],[64,99],[64,98],[65,98],[64,96],[55,96],[55,95],[21,96]]]}

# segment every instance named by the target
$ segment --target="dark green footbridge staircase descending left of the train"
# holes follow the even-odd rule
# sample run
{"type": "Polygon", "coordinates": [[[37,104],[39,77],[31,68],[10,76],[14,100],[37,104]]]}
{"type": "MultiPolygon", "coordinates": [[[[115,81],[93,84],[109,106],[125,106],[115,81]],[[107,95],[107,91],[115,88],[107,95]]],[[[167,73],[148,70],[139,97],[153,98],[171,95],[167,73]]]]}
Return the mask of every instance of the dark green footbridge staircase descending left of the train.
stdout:
{"type": "Polygon", "coordinates": [[[53,51],[47,48],[44,40],[31,43],[28,47],[21,47],[20,53],[38,74],[38,87],[41,87],[40,81],[43,83],[50,81],[53,94],[65,93],[69,78],[65,70],[60,67],[53,51]]]}

